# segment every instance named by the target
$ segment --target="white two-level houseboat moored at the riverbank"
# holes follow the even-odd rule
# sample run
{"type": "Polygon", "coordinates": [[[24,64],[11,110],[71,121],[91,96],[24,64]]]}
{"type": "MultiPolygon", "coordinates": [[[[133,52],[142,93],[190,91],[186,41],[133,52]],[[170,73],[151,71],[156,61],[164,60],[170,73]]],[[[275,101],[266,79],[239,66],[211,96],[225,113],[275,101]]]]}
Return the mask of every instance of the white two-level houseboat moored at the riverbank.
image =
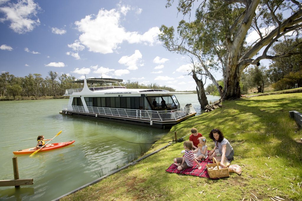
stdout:
{"type": "Polygon", "coordinates": [[[63,105],[60,113],[106,118],[124,123],[142,123],[157,128],[169,128],[196,114],[191,104],[178,103],[175,94],[184,92],[127,89],[120,85],[122,81],[112,78],[73,81],[84,83],[84,86],[65,91],[64,96],[70,96],[69,102],[68,105],[63,105]],[[93,87],[93,84],[100,86],[93,87]]]}

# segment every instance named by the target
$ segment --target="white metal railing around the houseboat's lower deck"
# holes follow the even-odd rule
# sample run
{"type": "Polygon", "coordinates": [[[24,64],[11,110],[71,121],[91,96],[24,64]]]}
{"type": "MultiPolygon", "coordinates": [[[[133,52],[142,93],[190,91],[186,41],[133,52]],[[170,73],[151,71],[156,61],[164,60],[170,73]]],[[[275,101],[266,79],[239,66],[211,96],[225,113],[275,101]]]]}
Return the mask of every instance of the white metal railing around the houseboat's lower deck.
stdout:
{"type": "Polygon", "coordinates": [[[180,108],[168,111],[154,111],[154,110],[133,110],[133,109],[120,109],[108,107],[85,107],[83,106],[68,106],[63,105],[63,110],[68,112],[82,112],[85,114],[100,114],[106,116],[119,116],[132,119],[148,119],[148,120],[178,120],[183,117],[196,113],[192,106],[180,106],[180,108]]]}

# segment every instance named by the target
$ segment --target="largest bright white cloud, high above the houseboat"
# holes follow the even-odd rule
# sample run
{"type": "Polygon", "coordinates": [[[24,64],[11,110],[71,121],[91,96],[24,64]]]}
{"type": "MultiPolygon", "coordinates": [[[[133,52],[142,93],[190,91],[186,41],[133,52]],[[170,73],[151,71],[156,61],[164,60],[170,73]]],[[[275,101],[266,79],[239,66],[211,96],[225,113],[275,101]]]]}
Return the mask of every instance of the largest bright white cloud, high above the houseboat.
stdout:
{"type": "Polygon", "coordinates": [[[118,9],[101,9],[97,15],[87,15],[76,21],[77,29],[82,32],[80,42],[89,51],[107,54],[113,53],[124,41],[153,45],[160,33],[158,27],[150,28],[146,33],[127,32],[120,24],[121,15],[126,14],[130,7],[120,6],[118,9]]]}

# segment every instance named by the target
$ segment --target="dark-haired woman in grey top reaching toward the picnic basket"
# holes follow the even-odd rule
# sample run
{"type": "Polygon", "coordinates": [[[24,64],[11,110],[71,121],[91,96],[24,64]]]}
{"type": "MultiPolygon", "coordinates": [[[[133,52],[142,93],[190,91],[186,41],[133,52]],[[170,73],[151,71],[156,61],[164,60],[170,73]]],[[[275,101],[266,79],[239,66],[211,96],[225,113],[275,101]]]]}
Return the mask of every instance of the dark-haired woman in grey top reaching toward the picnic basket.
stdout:
{"type": "Polygon", "coordinates": [[[208,159],[212,160],[213,157],[215,157],[217,160],[220,160],[220,166],[226,168],[226,165],[224,165],[223,162],[225,158],[227,158],[228,160],[233,159],[233,147],[230,145],[230,142],[224,138],[222,132],[219,129],[211,130],[209,137],[214,141],[215,147],[212,151],[209,152],[208,159]]]}

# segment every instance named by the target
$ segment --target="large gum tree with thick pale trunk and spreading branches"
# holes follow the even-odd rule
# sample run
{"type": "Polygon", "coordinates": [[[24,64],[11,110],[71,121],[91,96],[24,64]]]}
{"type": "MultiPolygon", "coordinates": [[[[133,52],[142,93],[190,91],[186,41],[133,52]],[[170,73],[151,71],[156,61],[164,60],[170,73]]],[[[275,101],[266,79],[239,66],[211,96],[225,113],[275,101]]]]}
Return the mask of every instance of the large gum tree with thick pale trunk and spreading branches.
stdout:
{"type": "MultiPolygon", "coordinates": [[[[167,0],[166,7],[173,2],[167,0]]],[[[195,18],[179,22],[176,38],[173,27],[162,25],[159,38],[169,51],[195,56],[218,89],[219,85],[203,57],[212,55],[223,73],[222,99],[239,98],[240,76],[246,67],[260,65],[262,59],[301,54],[295,51],[301,41],[279,54],[272,55],[268,51],[284,37],[294,40],[300,37],[301,7],[302,3],[296,0],[178,0],[178,12],[192,20],[191,11],[195,9],[195,18]],[[246,42],[249,30],[258,38],[252,44],[246,42]]]]}

